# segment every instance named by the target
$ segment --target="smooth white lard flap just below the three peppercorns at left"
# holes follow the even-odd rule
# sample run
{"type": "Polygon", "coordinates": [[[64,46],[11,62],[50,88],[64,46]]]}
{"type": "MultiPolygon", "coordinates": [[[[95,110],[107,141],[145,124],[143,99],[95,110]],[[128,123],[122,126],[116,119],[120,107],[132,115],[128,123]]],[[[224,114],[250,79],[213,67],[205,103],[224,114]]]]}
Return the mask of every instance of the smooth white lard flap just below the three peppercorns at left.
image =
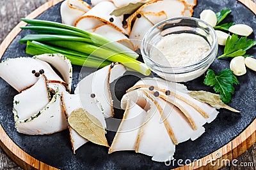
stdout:
{"type": "Polygon", "coordinates": [[[47,80],[44,75],[31,88],[14,96],[13,114],[14,120],[26,120],[49,103],[47,80]]]}

